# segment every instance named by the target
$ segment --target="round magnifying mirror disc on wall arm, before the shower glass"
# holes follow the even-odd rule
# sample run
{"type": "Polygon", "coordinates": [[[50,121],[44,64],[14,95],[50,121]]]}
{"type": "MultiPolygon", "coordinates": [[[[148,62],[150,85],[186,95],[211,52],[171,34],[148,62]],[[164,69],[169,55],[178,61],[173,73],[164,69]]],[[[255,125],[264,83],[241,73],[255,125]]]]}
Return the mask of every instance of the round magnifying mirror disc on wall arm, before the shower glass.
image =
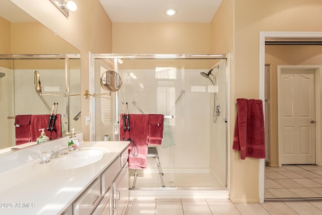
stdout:
{"type": "Polygon", "coordinates": [[[105,71],[101,76],[101,86],[106,91],[118,91],[122,86],[120,75],[113,70],[105,71]]]}

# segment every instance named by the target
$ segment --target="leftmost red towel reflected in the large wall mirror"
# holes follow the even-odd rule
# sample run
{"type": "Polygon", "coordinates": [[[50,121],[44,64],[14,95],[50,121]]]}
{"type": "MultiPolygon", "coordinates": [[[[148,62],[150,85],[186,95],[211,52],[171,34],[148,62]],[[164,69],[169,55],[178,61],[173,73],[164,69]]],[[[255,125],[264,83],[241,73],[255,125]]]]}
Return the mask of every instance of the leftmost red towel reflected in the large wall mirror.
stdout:
{"type": "Polygon", "coordinates": [[[30,117],[31,115],[17,115],[15,117],[16,145],[30,142],[30,117]]]}

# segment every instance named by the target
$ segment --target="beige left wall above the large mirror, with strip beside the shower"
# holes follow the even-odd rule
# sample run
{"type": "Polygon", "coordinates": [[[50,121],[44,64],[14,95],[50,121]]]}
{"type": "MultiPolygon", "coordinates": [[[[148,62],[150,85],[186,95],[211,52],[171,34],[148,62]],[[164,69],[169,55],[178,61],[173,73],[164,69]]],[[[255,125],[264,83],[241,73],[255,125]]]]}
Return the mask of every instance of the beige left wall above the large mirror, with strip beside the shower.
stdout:
{"type": "MultiPolygon", "coordinates": [[[[66,18],[50,1],[10,0],[51,31],[81,52],[81,92],[89,89],[89,52],[112,52],[112,22],[99,0],[74,0],[77,11],[66,18]]],[[[85,117],[90,114],[89,99],[82,97],[82,131],[84,140],[90,139],[85,117]]]]}

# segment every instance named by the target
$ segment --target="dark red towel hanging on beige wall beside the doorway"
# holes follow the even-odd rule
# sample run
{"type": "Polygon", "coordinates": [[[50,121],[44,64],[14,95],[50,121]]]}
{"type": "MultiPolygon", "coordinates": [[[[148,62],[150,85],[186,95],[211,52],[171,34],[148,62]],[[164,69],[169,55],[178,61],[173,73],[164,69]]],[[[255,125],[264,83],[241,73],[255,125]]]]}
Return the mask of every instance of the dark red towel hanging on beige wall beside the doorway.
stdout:
{"type": "Polygon", "coordinates": [[[237,99],[237,110],[232,149],[240,151],[241,160],[265,158],[263,101],[237,99]]]}

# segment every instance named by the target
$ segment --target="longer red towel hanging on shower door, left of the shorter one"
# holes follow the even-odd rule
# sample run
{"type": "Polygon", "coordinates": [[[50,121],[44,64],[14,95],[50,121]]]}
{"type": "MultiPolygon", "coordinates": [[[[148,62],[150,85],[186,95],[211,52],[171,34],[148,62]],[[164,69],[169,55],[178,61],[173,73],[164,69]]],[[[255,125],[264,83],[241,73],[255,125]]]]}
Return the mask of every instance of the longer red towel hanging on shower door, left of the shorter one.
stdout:
{"type": "MultiPolygon", "coordinates": [[[[129,114],[130,130],[124,131],[123,114],[120,115],[120,139],[128,140],[129,137],[134,141],[128,146],[129,150],[129,168],[130,169],[145,169],[147,158],[147,120],[148,114],[129,114]],[[136,156],[134,156],[136,155],[136,156]]],[[[128,126],[126,121],[126,127],[128,126]]]]}

